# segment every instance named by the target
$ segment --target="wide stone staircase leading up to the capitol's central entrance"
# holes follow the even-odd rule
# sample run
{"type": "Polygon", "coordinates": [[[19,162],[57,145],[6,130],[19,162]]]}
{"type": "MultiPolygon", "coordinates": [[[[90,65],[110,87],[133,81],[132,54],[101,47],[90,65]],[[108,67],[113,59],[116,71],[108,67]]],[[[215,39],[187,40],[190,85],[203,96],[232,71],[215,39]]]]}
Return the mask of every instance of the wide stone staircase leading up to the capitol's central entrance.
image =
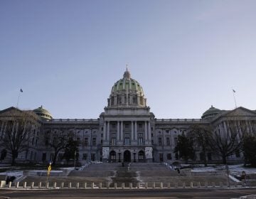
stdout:
{"type": "MultiPolygon", "coordinates": [[[[23,181],[46,181],[46,176],[28,176],[23,181]]],[[[124,186],[129,187],[130,183],[135,187],[138,184],[141,186],[153,186],[159,187],[161,184],[164,187],[171,185],[189,186],[191,182],[202,185],[206,182],[209,184],[215,183],[227,183],[226,176],[207,176],[207,175],[194,175],[190,169],[182,169],[180,173],[177,171],[167,168],[164,163],[92,163],[82,171],[71,171],[68,176],[50,176],[48,178],[50,183],[57,182],[60,185],[64,182],[68,185],[69,182],[80,183],[80,185],[87,183],[88,185],[92,182],[99,185],[102,183],[103,187],[110,185],[110,188],[114,188],[117,185],[118,188],[124,186]]]]}

